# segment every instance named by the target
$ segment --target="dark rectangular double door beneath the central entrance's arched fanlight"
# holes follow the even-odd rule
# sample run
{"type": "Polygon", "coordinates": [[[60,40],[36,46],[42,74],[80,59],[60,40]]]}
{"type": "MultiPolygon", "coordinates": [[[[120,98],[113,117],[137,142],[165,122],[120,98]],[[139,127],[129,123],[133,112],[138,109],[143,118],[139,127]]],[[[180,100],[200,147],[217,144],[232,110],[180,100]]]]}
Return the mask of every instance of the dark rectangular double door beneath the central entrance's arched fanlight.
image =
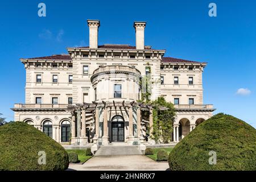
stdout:
{"type": "Polygon", "coordinates": [[[112,122],[112,142],[125,141],[125,125],[123,122],[112,122]]]}

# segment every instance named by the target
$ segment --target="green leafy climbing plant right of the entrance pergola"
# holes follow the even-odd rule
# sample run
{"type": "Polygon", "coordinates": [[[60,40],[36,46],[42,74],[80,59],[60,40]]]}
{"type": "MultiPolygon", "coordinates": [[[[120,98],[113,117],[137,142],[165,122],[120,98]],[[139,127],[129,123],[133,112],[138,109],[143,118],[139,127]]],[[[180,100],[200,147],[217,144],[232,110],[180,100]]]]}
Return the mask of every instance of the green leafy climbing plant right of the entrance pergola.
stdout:
{"type": "Polygon", "coordinates": [[[151,102],[153,107],[153,137],[159,143],[168,143],[171,140],[173,123],[175,119],[175,108],[171,102],[164,97],[158,97],[151,102]]]}

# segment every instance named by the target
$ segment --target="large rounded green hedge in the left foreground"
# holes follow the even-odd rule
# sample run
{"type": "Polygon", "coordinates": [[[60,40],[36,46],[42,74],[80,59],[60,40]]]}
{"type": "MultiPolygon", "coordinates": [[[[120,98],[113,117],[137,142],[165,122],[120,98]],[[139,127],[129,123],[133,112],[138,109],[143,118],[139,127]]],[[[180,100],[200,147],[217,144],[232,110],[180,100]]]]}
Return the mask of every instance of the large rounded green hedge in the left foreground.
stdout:
{"type": "Polygon", "coordinates": [[[0,127],[0,171],[64,170],[68,164],[64,148],[35,127],[24,122],[0,127]],[[46,164],[40,160],[44,152],[46,164]]]}

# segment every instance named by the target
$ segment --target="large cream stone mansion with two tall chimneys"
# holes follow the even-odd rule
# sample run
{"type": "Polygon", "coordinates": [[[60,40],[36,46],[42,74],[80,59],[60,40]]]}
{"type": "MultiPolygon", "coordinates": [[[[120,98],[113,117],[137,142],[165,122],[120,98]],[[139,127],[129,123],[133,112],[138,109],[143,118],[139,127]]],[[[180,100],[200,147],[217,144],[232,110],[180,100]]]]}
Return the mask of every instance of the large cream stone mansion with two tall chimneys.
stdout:
{"type": "Polygon", "coordinates": [[[213,105],[203,103],[207,63],[165,57],[165,49],[145,46],[146,22],[134,22],[135,46],[99,46],[100,21],[87,22],[88,47],[20,59],[26,69],[26,101],[12,108],[15,121],[33,125],[61,144],[150,143],[152,107],[138,102],[148,90],[151,100],[162,96],[174,104],[170,142],[179,142],[212,117],[213,105]],[[143,118],[143,112],[149,117],[143,118]]]}

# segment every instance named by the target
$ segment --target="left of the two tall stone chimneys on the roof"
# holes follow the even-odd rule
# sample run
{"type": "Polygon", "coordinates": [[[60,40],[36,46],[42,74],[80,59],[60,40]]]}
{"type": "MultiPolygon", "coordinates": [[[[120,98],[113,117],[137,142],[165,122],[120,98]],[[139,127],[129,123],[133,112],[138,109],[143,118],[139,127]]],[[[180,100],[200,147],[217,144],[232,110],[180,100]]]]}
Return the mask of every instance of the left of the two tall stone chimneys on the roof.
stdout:
{"type": "Polygon", "coordinates": [[[100,20],[87,20],[89,27],[89,47],[98,48],[98,27],[100,27],[100,20]]]}

